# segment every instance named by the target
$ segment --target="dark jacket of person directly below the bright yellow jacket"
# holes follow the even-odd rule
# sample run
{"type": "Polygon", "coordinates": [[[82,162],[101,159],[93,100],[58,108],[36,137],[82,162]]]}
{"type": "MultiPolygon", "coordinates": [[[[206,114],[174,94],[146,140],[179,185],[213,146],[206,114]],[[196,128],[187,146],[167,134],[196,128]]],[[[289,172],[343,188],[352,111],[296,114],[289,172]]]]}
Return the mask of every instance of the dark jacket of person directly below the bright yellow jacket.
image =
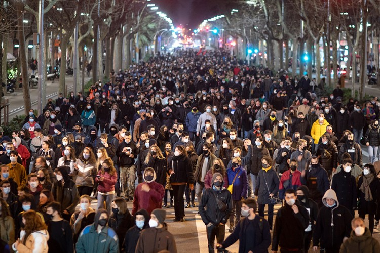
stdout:
{"type": "Polygon", "coordinates": [[[319,162],[326,171],[331,172],[333,168],[338,166],[338,149],[335,143],[327,140],[327,144],[319,144],[316,155],[319,157],[319,162]]]}

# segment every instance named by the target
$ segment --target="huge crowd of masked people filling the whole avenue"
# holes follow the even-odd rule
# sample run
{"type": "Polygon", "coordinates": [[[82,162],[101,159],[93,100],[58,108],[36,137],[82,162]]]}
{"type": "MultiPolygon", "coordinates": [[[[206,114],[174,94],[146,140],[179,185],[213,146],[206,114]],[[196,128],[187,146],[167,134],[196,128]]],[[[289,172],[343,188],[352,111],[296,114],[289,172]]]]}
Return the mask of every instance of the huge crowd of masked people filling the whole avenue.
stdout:
{"type": "Polygon", "coordinates": [[[179,50],[49,98],[0,128],[0,249],[177,252],[198,207],[209,252],[380,252],[380,101],[313,83],[179,50]]]}

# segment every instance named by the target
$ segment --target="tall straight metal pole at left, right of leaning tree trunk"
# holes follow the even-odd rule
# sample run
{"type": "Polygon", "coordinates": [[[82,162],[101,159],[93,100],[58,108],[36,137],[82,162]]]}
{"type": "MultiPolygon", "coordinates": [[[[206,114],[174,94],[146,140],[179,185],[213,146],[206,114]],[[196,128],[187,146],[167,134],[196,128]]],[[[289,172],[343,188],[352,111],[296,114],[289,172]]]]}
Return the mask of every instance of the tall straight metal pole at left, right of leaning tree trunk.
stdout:
{"type": "MultiPolygon", "coordinates": [[[[38,94],[38,110],[39,114],[42,113],[42,86],[44,83],[44,71],[46,71],[44,68],[44,1],[40,0],[39,5],[39,94],[38,94]]],[[[24,83],[24,85],[28,85],[28,83],[24,83]]]]}

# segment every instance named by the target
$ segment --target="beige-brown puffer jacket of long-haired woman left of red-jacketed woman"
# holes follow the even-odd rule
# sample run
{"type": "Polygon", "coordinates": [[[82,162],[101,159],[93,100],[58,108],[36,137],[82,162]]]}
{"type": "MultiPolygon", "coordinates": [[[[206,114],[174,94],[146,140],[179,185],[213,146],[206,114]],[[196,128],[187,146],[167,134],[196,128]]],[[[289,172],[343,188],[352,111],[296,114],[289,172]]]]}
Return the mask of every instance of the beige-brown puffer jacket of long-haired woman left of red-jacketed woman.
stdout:
{"type": "Polygon", "coordinates": [[[80,159],[77,160],[77,164],[78,170],[74,170],[72,172],[72,176],[73,178],[75,178],[75,183],[77,184],[77,187],[94,187],[95,175],[97,174],[96,164],[84,162],[80,159]]]}

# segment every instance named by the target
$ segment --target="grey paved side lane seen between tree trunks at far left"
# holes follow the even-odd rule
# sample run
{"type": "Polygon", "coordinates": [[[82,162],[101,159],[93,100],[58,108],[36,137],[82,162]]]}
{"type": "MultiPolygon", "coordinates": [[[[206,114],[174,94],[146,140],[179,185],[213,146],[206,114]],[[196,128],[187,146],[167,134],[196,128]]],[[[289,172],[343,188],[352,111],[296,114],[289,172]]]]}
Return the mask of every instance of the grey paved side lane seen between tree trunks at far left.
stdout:
{"type": "MultiPolygon", "coordinates": [[[[91,80],[91,77],[85,76],[85,84],[91,80]]],[[[80,81],[77,83],[78,88],[80,87],[80,81]]],[[[68,91],[72,91],[74,83],[74,77],[72,75],[66,75],[66,85],[68,91]]],[[[46,100],[52,98],[55,100],[58,97],[58,84],[59,79],[54,81],[46,81],[46,100]]],[[[22,88],[16,90],[14,93],[7,93],[4,96],[5,99],[9,100],[9,120],[11,120],[16,115],[24,115],[24,98],[22,93],[22,88]]],[[[37,109],[38,105],[38,88],[30,88],[30,100],[33,109],[37,109]]],[[[45,107],[45,105],[43,105],[45,107]]],[[[4,120],[4,115],[2,115],[2,122],[4,120]]]]}

